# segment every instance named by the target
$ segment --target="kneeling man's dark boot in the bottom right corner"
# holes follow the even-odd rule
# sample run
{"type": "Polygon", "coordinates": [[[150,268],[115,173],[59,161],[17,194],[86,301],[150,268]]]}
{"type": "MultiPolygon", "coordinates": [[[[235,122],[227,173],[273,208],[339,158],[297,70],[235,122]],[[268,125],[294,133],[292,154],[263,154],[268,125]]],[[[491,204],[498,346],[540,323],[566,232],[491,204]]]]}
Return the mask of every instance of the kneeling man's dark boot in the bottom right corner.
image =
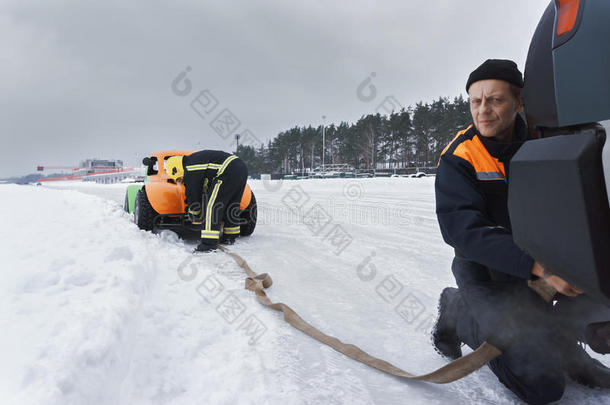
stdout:
{"type": "Polygon", "coordinates": [[[562,367],[570,378],[591,388],[610,388],[610,369],[591,358],[578,343],[561,349],[562,367]]]}

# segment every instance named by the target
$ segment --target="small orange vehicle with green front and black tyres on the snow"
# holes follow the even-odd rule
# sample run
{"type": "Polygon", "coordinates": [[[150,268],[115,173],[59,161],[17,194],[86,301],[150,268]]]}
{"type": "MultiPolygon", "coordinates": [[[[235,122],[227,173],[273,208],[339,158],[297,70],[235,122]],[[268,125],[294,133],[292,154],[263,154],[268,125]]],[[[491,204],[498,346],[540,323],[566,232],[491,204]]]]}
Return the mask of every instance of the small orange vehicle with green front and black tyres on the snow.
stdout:
{"type": "MultiPolygon", "coordinates": [[[[164,150],[145,157],[144,185],[132,184],[125,193],[126,212],[133,214],[135,224],[147,231],[170,229],[181,237],[197,238],[201,225],[193,225],[186,213],[184,185],[176,183],[165,172],[165,161],[171,156],[188,156],[193,151],[164,150]]],[[[256,227],[256,198],[246,184],[240,202],[240,236],[248,236],[256,227]]]]}

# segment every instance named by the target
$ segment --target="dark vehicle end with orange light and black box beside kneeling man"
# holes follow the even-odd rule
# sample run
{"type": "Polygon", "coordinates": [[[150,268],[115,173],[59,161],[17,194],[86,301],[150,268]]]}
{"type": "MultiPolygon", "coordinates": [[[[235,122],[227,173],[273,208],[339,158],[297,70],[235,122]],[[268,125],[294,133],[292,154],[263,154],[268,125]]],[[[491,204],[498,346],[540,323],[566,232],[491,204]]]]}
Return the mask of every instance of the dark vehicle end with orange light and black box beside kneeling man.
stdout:
{"type": "Polygon", "coordinates": [[[532,38],[523,99],[541,139],[510,162],[509,213],[521,249],[610,305],[610,1],[571,4],[569,30],[555,0],[532,38]]]}

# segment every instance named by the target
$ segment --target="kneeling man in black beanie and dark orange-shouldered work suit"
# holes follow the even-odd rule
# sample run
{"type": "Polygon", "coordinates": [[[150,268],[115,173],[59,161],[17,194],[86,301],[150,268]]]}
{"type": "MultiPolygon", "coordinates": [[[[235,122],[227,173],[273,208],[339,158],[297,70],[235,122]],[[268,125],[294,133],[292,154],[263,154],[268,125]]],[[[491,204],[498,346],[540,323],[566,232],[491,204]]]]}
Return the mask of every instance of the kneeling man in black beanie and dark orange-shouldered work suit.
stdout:
{"type": "Polygon", "coordinates": [[[436,213],[443,239],[455,249],[451,269],[459,288],[441,294],[432,337],[436,349],[451,359],[462,355],[462,343],[472,349],[484,341],[496,346],[502,354],[488,364],[491,371],[523,401],[546,404],[562,397],[564,372],[588,386],[610,387],[610,370],[579,344],[608,353],[607,344],[593,344],[591,328],[604,333],[610,309],[543,268],[513,241],[509,162],[529,138],[519,115],[522,87],[512,61],[479,66],[466,85],[473,123],[441,154],[436,213]],[[556,305],[528,288],[528,281],[540,279],[559,292],[556,305]]]}

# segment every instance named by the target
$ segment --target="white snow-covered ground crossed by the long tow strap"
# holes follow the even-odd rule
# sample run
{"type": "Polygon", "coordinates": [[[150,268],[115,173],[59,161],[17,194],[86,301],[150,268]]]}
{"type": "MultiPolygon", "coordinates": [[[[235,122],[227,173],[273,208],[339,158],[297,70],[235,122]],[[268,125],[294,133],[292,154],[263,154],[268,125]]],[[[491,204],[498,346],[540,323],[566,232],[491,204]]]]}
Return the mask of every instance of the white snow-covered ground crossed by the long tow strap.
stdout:
{"type": "MultiPolygon", "coordinates": [[[[429,337],[454,285],[433,178],[250,185],[257,229],[231,250],[271,274],[273,301],[409,372],[446,364],[429,337]]],[[[0,403],[520,403],[487,368],[407,382],[318,343],[260,305],[225,253],[139,230],[125,187],[0,185],[0,403]]],[[[608,394],[568,382],[562,403],[608,394]]]]}

